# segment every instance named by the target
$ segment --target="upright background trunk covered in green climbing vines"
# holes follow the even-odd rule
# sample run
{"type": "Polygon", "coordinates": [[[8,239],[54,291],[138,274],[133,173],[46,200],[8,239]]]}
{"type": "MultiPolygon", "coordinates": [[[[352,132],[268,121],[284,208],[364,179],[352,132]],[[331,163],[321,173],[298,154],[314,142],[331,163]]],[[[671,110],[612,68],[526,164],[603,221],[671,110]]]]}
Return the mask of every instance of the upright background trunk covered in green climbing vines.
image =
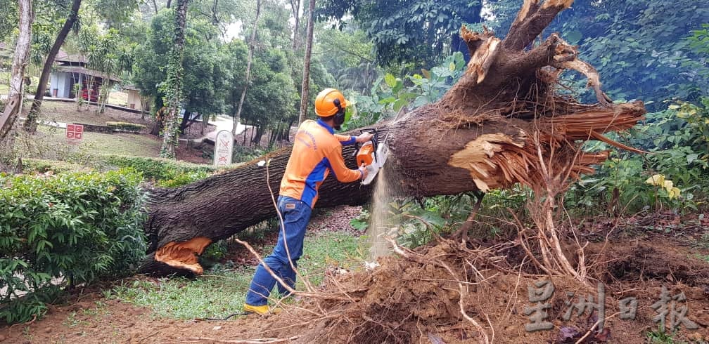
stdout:
{"type": "MultiPolygon", "coordinates": [[[[184,50],[184,25],[189,0],[178,0],[175,8],[174,45],[167,62],[167,92],[165,92],[167,115],[163,120],[162,147],[160,157],[175,159],[179,138],[179,102],[182,97],[182,50],[184,50]]],[[[185,111],[186,112],[186,111],[185,111]]]]}

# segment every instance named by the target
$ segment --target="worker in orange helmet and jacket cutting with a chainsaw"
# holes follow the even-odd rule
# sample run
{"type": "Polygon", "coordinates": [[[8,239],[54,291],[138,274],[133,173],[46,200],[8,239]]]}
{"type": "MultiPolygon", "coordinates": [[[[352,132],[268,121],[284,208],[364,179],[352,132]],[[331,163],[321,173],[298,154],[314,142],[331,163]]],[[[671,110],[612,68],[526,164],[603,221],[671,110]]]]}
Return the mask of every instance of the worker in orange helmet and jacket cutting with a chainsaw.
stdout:
{"type": "MultiPolygon", "coordinates": [[[[318,200],[318,188],[328,173],[335,174],[342,183],[362,180],[367,170],[360,167],[350,170],[342,158],[342,145],[367,142],[372,134],[363,133],[357,137],[335,134],[345,122],[347,100],[340,91],[325,88],[315,100],[318,120],[306,120],[298,127],[293,142],[293,151],[281,180],[278,197],[278,212],[283,219],[278,243],[273,253],[264,258],[269,268],[289,287],[296,285],[297,266],[303,254],[303,239],[310,221],[311,211],[318,200]]],[[[267,299],[277,284],[277,280],[259,264],[246,294],[246,313],[268,314],[267,299]]],[[[281,295],[287,294],[286,287],[278,284],[281,295]]]]}

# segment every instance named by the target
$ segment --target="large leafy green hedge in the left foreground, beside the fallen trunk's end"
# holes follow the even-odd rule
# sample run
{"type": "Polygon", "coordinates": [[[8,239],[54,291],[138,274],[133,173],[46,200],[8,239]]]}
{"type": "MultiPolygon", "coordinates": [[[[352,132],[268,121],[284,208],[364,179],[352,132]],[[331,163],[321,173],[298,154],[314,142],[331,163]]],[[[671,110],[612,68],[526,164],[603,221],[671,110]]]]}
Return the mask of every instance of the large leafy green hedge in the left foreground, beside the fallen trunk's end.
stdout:
{"type": "Polygon", "coordinates": [[[141,180],[128,169],[0,176],[0,319],[28,321],[64,287],[132,273],[146,250],[141,180]]]}

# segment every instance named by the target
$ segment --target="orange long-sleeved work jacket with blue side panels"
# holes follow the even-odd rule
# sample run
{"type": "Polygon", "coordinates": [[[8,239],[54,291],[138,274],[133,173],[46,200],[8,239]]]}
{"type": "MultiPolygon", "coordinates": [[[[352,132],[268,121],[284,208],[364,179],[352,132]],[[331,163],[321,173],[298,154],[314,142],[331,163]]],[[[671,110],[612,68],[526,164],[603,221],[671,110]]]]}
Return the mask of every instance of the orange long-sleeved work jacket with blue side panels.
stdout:
{"type": "Polygon", "coordinates": [[[333,128],[322,120],[303,122],[293,141],[279,194],[315,207],[318,188],[330,171],[342,183],[362,178],[362,172],[347,168],[342,158],[342,144],[354,142],[355,137],[335,134],[333,128]]]}

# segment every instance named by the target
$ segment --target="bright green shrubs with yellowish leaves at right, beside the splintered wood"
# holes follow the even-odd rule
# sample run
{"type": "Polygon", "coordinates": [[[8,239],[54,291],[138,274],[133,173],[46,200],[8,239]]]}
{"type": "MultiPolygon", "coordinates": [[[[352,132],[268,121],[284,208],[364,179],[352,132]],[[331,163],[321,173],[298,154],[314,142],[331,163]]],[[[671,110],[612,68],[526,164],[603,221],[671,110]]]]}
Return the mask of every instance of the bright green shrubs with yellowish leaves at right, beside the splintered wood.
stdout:
{"type": "MultiPolygon", "coordinates": [[[[646,124],[630,130],[627,142],[650,154],[613,152],[610,159],[598,167],[596,175],[586,176],[571,187],[566,197],[569,209],[575,209],[575,205],[604,204],[615,207],[611,211],[616,213],[697,209],[697,202],[702,202],[697,196],[707,197],[705,180],[709,161],[705,126],[709,122],[709,109],[706,105],[679,102],[646,117],[646,124]],[[649,182],[648,178],[655,175],[671,180],[671,188],[678,188],[679,195],[674,195],[671,188],[649,182]]],[[[588,147],[592,150],[607,148],[603,143],[588,147]]]]}

